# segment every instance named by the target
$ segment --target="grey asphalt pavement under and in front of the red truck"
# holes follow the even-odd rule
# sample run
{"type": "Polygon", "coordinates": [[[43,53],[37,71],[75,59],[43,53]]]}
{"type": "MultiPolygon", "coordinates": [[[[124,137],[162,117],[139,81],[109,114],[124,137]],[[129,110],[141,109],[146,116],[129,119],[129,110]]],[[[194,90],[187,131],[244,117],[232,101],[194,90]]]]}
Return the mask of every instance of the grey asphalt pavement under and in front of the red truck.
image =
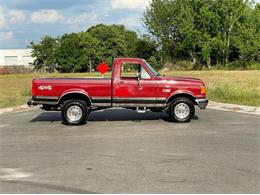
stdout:
{"type": "Polygon", "coordinates": [[[60,113],[0,116],[1,193],[260,193],[259,115],[105,110],[64,126],[60,113]]]}

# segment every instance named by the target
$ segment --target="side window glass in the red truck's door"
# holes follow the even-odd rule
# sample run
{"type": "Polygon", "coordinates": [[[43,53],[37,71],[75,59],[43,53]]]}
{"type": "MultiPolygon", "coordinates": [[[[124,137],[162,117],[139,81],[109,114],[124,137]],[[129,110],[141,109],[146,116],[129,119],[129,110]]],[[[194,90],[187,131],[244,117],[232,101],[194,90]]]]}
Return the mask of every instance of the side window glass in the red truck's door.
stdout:
{"type": "Polygon", "coordinates": [[[140,64],[123,63],[121,66],[122,79],[137,79],[138,75],[141,79],[150,79],[150,75],[140,64]]]}

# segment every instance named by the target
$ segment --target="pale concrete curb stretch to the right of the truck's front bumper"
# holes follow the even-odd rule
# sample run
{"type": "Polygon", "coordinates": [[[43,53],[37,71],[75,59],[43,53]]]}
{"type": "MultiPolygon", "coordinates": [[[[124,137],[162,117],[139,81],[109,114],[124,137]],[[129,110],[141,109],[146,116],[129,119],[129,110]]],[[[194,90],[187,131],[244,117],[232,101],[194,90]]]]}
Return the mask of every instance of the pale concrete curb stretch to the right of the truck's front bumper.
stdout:
{"type": "Polygon", "coordinates": [[[230,111],[230,112],[260,115],[260,107],[256,107],[256,106],[244,106],[244,105],[209,101],[207,108],[213,110],[223,110],[223,111],[230,111]]]}

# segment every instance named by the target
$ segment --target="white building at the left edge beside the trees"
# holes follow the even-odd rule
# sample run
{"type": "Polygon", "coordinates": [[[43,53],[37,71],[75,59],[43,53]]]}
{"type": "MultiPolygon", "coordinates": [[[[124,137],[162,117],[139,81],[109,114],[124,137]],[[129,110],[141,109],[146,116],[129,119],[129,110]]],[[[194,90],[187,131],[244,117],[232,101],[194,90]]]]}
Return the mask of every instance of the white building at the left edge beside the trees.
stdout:
{"type": "Polygon", "coordinates": [[[0,49],[0,66],[31,66],[32,49],[0,49]]]}

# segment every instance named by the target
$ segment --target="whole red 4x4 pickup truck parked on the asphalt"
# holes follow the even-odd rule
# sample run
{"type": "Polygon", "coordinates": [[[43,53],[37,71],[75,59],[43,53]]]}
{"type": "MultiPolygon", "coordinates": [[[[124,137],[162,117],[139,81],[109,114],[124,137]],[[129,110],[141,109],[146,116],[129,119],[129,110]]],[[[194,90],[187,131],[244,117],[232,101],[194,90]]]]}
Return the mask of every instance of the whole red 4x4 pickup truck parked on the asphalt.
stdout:
{"type": "Polygon", "coordinates": [[[175,122],[189,122],[194,105],[208,104],[205,84],[194,78],[163,77],[145,60],[117,58],[112,78],[39,78],[32,81],[29,106],[60,110],[67,125],[84,124],[90,111],[109,107],[166,110],[175,122]]]}

